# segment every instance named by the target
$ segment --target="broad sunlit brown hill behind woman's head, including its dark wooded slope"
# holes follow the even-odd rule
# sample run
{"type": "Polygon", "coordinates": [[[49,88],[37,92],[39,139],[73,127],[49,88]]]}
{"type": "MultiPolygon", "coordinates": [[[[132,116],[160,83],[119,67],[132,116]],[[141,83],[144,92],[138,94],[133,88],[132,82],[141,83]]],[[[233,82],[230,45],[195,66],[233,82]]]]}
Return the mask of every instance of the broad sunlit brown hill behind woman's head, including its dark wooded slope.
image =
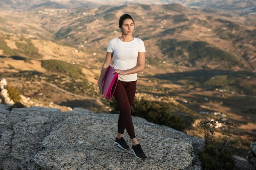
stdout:
{"type": "Polygon", "coordinates": [[[63,8],[62,4],[48,1],[12,15],[16,18],[13,21],[4,13],[0,21],[6,24],[0,25],[0,30],[56,41],[81,51],[102,50],[111,38],[120,35],[119,16],[130,13],[136,24],[134,36],[144,40],[149,58],[178,64],[184,70],[256,68],[256,27],[249,17],[244,20],[229,12],[218,14],[181,4],[63,8]]]}

